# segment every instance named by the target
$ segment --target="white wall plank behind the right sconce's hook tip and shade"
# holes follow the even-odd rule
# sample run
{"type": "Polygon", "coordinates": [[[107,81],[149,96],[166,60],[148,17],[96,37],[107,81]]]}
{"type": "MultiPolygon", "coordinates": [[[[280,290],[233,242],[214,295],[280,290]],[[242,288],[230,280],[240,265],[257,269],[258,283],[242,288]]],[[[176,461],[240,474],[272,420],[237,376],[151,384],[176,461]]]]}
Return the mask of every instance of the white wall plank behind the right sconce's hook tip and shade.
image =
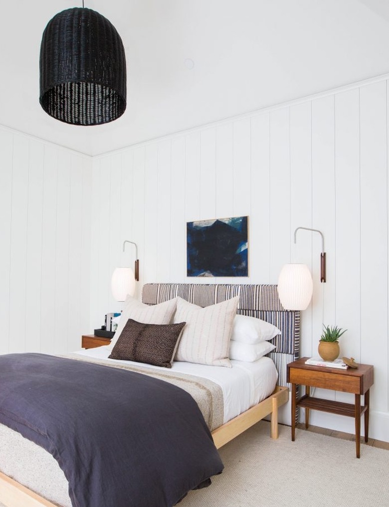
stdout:
{"type": "MultiPolygon", "coordinates": [[[[290,108],[290,244],[292,263],[306,264],[312,271],[311,234],[298,227],[312,228],[311,103],[290,108]]],[[[312,307],[302,312],[300,354],[312,356],[312,307]]]]}

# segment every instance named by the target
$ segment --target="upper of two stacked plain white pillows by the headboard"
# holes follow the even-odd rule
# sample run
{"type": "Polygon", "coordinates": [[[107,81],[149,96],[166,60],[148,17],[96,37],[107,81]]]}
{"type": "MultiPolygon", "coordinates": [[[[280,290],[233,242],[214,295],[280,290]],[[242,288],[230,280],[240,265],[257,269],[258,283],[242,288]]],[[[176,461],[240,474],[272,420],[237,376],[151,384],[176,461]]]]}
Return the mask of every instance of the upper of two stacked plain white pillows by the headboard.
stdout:
{"type": "Polygon", "coordinates": [[[280,334],[281,331],[270,322],[247,315],[237,315],[234,320],[231,340],[254,345],[271,340],[280,334]]]}

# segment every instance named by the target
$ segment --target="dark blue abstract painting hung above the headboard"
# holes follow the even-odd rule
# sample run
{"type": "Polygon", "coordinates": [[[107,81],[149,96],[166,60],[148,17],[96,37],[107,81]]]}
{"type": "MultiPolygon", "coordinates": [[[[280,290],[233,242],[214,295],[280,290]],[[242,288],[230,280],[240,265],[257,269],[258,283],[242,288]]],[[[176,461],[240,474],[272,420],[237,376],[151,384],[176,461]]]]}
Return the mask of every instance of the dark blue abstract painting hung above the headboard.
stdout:
{"type": "Polygon", "coordinates": [[[248,276],[248,216],[186,224],[187,276],[248,276]]]}

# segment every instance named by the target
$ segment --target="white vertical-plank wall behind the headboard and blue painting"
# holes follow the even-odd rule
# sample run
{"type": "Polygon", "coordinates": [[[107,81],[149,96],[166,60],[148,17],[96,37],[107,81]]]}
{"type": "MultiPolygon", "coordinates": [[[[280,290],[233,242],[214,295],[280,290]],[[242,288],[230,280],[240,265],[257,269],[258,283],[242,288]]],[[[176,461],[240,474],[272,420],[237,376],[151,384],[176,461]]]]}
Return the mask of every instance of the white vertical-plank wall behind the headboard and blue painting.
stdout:
{"type": "MultiPolygon", "coordinates": [[[[389,441],[386,96],[380,78],[95,158],[90,328],[120,309],[109,286],[114,267],[135,258],[121,252],[125,239],[138,244],[139,294],[144,282],[193,281],[187,221],[249,215],[249,278],[195,281],[276,283],[283,264],[308,264],[301,355],[316,353],[322,321],[347,328],[341,354],[375,366],[371,436],[389,441]],[[321,239],[299,231],[294,244],[299,226],[325,236],[325,285],[321,239]]],[[[312,412],[311,421],[353,431],[343,417],[312,412]]]]}

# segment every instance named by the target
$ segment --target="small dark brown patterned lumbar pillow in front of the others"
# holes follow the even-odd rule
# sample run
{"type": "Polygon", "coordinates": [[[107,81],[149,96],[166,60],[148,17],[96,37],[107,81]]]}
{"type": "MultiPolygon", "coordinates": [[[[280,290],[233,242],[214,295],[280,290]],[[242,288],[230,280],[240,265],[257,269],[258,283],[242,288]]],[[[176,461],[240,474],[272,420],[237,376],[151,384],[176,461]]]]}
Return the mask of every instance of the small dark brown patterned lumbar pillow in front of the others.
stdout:
{"type": "Polygon", "coordinates": [[[184,325],[185,322],[144,324],[130,318],[109,358],[172,368],[184,325]]]}

